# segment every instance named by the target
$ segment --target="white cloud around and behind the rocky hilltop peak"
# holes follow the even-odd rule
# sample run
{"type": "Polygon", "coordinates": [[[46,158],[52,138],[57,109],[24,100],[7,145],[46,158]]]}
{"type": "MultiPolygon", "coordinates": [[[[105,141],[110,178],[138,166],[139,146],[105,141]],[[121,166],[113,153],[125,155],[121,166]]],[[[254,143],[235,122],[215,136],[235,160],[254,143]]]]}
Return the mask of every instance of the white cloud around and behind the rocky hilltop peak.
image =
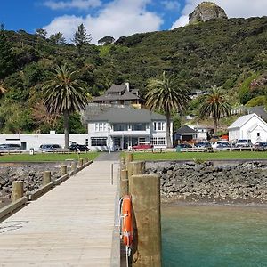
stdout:
{"type": "MultiPolygon", "coordinates": [[[[190,12],[193,12],[196,6],[201,2],[203,2],[203,0],[186,0],[182,10],[182,17],[174,22],[172,28],[185,26],[187,21],[184,17],[188,17],[190,12]]],[[[266,0],[214,0],[208,2],[214,2],[221,6],[229,18],[262,17],[266,15],[267,10],[266,0]]]]}

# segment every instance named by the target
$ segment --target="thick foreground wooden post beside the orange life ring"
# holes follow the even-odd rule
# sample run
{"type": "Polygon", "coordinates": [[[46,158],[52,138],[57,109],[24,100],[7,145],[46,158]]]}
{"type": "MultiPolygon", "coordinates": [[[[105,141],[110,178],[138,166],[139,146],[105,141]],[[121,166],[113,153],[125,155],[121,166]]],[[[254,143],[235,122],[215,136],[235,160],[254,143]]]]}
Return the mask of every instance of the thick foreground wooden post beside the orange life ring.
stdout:
{"type": "Polygon", "coordinates": [[[134,214],[133,267],[160,267],[160,177],[129,176],[129,191],[134,214]]]}

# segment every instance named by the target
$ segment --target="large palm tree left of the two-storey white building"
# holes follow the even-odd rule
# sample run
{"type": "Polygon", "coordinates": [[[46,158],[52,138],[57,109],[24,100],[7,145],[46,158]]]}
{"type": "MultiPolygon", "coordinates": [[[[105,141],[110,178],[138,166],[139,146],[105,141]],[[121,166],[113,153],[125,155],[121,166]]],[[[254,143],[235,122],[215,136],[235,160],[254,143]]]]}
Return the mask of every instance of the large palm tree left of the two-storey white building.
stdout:
{"type": "Polygon", "coordinates": [[[88,102],[85,85],[77,81],[76,74],[66,64],[56,66],[42,86],[47,111],[64,116],[65,149],[69,148],[69,114],[85,109],[88,102]]]}

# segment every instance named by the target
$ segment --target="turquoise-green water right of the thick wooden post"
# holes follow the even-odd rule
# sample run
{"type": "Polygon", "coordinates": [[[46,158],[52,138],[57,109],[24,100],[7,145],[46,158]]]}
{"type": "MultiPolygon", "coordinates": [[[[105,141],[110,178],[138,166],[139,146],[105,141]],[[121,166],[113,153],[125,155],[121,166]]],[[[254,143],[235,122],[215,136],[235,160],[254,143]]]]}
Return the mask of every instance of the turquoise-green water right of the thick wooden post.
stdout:
{"type": "Polygon", "coordinates": [[[163,266],[267,266],[267,207],[163,206],[163,266]]]}

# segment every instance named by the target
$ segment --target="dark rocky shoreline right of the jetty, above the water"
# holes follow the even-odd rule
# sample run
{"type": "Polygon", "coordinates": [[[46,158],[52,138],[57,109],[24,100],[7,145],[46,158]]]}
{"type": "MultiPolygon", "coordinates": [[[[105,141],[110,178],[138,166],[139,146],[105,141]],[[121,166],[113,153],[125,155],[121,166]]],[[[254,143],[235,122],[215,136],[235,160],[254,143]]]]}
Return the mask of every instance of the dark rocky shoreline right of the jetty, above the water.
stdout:
{"type": "Polygon", "coordinates": [[[150,162],[146,167],[147,174],[161,176],[163,203],[267,204],[267,162],[150,162]]]}

